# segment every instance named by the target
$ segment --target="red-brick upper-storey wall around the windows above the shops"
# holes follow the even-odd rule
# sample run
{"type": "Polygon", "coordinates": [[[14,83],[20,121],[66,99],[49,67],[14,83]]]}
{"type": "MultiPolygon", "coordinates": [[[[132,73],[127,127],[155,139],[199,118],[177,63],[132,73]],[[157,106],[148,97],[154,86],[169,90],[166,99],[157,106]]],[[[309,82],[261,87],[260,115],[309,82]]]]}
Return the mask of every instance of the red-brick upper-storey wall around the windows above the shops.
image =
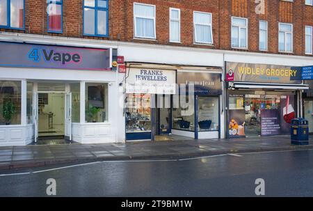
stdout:
{"type": "Polygon", "coordinates": [[[25,0],[25,2],[25,30],[0,29],[0,31],[145,42],[157,45],[231,49],[231,17],[236,16],[248,18],[248,51],[259,52],[259,19],[264,19],[268,21],[267,53],[278,53],[278,22],[288,22],[294,24],[294,54],[304,55],[304,27],[305,25],[313,26],[313,6],[305,6],[305,0],[294,1],[294,3],[280,0],[264,0],[264,14],[255,13],[255,6],[257,6],[255,0],[109,0],[109,38],[97,38],[83,36],[83,0],[63,0],[62,34],[47,32],[46,1],[25,0]],[[156,5],[157,40],[134,39],[134,2],[156,5]],[[170,7],[181,10],[181,43],[169,42],[170,7]],[[212,13],[213,45],[194,44],[193,11],[195,10],[212,13]]]}

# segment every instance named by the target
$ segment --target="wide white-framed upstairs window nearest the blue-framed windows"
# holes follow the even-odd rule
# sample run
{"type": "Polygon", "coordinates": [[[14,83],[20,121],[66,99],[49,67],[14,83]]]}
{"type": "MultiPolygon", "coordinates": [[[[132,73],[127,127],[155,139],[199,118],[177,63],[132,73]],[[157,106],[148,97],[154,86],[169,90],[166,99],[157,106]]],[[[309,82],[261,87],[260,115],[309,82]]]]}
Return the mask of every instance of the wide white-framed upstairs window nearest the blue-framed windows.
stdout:
{"type": "Polygon", "coordinates": [[[134,3],[134,29],[136,38],[156,39],[154,5],[134,3]]]}

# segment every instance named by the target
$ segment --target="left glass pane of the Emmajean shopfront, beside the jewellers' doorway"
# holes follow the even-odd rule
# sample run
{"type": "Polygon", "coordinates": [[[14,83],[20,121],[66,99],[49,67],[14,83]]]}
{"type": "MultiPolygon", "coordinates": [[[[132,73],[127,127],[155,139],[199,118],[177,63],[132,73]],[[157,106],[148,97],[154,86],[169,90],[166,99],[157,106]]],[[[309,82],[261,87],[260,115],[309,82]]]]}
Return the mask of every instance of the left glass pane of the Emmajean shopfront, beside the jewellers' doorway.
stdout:
{"type": "Polygon", "coordinates": [[[195,131],[194,101],[195,97],[188,95],[180,95],[179,100],[173,100],[172,129],[195,131]]]}

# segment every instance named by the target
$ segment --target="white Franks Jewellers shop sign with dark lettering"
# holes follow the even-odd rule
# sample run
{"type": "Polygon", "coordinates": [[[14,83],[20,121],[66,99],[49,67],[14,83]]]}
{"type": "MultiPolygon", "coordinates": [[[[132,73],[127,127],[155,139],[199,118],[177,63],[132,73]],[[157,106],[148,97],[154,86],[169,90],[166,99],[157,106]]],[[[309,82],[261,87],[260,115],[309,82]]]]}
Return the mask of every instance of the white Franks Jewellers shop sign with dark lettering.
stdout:
{"type": "Polygon", "coordinates": [[[176,93],[175,70],[129,68],[126,77],[126,93],[164,95],[176,93]]]}

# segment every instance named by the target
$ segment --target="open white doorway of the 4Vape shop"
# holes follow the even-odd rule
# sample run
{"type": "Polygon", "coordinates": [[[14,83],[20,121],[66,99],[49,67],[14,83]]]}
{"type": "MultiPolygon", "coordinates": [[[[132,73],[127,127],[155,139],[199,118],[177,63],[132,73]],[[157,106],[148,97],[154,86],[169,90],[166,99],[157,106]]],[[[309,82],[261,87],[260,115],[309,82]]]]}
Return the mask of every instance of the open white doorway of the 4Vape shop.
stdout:
{"type": "Polygon", "coordinates": [[[34,94],[35,143],[71,140],[72,94],[40,92],[34,94]]]}

